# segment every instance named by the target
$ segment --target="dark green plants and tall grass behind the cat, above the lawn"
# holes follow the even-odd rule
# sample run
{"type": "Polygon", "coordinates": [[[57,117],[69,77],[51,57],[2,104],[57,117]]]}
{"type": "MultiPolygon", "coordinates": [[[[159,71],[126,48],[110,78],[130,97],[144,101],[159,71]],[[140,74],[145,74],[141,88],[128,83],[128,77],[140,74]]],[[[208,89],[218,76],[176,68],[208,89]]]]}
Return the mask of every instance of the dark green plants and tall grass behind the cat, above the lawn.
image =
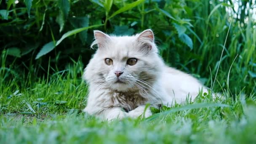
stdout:
{"type": "Polygon", "coordinates": [[[152,29],[166,64],[212,87],[220,62],[214,90],[250,95],[256,92],[255,1],[0,0],[0,83],[32,87],[67,71],[81,77],[95,52],[93,30],[152,29]]]}

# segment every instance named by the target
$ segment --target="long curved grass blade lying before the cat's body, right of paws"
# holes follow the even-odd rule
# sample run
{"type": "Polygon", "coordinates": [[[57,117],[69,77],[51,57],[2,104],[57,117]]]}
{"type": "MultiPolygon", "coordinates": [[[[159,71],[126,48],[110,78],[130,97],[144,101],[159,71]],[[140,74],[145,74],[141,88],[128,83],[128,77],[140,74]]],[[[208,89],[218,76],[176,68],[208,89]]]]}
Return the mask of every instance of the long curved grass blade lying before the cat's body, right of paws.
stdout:
{"type": "Polygon", "coordinates": [[[150,117],[147,117],[145,120],[146,121],[151,121],[151,120],[154,120],[154,119],[156,119],[157,117],[159,117],[161,115],[168,115],[168,114],[171,114],[173,112],[179,112],[179,111],[182,111],[182,110],[210,108],[210,107],[230,107],[230,106],[227,105],[227,104],[218,104],[218,103],[195,103],[195,104],[184,105],[184,106],[181,106],[181,107],[170,108],[170,110],[160,112],[160,113],[157,113],[157,114],[152,115],[150,117]]]}

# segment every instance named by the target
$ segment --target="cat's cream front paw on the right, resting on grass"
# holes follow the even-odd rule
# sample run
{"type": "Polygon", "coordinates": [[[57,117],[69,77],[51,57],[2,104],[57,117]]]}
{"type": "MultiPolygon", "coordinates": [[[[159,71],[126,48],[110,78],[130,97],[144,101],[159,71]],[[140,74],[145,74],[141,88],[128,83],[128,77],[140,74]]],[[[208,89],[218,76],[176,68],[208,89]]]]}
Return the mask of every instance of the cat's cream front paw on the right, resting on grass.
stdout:
{"type": "Polygon", "coordinates": [[[131,110],[130,112],[128,112],[128,117],[132,117],[132,118],[137,118],[139,116],[141,117],[149,117],[152,115],[151,110],[149,109],[149,107],[147,107],[145,113],[145,105],[136,107],[136,109],[131,110]]]}

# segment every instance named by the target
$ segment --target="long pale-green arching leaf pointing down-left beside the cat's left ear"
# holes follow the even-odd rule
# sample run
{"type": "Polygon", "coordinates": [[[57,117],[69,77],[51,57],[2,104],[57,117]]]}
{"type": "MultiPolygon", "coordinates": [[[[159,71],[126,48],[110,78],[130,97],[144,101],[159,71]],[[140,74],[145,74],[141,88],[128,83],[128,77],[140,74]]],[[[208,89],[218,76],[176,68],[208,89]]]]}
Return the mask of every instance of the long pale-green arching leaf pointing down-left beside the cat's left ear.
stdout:
{"type": "Polygon", "coordinates": [[[62,35],[61,39],[57,41],[56,45],[54,45],[54,42],[51,41],[50,43],[47,43],[43,46],[43,48],[40,50],[39,53],[37,53],[37,56],[35,59],[39,59],[41,56],[45,55],[46,53],[49,53],[50,51],[52,51],[57,45],[59,45],[61,43],[62,40],[64,40],[66,37],[69,37],[71,35],[75,35],[78,32],[82,32],[84,30],[93,28],[93,27],[100,27],[103,26],[104,24],[99,24],[99,25],[93,25],[90,27],[83,27],[83,28],[79,28],[79,29],[74,29],[71,30],[69,32],[66,32],[64,35],[62,35]]]}

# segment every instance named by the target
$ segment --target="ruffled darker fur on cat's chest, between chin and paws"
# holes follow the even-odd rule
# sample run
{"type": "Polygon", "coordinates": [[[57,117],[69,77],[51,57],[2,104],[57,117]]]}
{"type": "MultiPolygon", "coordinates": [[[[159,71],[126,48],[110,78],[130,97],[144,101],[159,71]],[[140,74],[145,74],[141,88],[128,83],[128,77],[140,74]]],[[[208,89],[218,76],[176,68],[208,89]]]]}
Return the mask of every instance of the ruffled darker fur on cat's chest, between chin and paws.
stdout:
{"type": "Polygon", "coordinates": [[[111,102],[114,107],[123,107],[126,111],[131,111],[136,107],[146,103],[146,99],[139,93],[113,92],[111,102]]]}

